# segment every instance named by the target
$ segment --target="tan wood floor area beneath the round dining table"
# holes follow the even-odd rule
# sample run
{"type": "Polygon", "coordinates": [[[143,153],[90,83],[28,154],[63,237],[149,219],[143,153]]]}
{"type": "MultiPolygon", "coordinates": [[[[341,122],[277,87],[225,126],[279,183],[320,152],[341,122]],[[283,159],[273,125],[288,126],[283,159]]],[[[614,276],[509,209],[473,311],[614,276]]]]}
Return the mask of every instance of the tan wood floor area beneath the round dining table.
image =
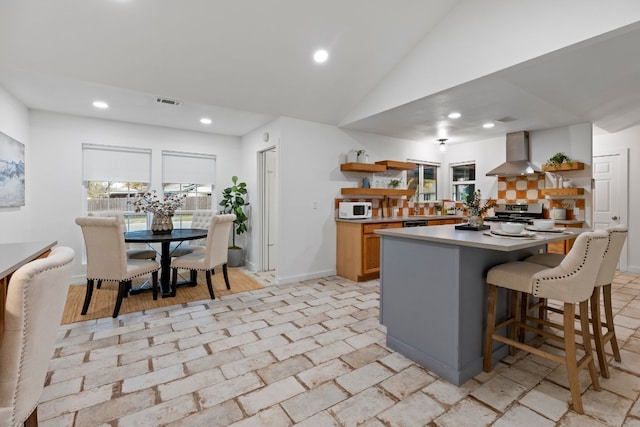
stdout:
{"type": "MultiPolygon", "coordinates": [[[[189,273],[186,272],[186,277],[188,277],[188,274],[189,273]]],[[[216,270],[216,274],[212,276],[212,279],[213,290],[216,298],[262,288],[260,283],[237,268],[229,268],[229,283],[231,284],[230,290],[228,290],[224,284],[222,271],[218,272],[216,270]]],[[[84,283],[69,287],[69,294],[67,295],[67,303],[62,315],[61,324],[64,325],[67,323],[111,317],[118,292],[118,285],[116,282],[105,282],[102,284],[100,289],[93,290],[89,310],[87,311],[87,314],[83,316],[80,314],[80,311],[82,310],[82,304],[84,303],[85,292],[86,284],[84,283]]],[[[198,274],[198,286],[185,286],[178,288],[175,298],[162,298],[161,296],[158,296],[158,299],[154,301],[151,292],[132,295],[125,298],[122,301],[120,315],[205,299],[210,299],[210,297],[209,291],[207,290],[205,274],[201,272],[198,274]]]]}

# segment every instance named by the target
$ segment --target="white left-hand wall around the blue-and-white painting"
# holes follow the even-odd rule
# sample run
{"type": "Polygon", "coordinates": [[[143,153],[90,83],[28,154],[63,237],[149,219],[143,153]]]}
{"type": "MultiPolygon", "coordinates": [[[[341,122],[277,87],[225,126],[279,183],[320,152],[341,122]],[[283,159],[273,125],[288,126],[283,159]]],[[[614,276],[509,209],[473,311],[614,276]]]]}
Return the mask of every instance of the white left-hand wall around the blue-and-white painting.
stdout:
{"type": "Polygon", "coordinates": [[[31,198],[34,169],[29,165],[29,111],[20,101],[0,86],[0,132],[24,144],[25,206],[0,208],[0,243],[32,241],[31,198]]]}

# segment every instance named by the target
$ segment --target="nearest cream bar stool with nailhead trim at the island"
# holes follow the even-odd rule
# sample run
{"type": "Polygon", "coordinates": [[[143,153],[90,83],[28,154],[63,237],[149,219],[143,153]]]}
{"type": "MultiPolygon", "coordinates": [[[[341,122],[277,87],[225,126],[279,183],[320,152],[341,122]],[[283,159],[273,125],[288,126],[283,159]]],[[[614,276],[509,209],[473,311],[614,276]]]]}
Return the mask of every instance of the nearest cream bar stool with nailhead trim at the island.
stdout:
{"type": "MultiPolygon", "coordinates": [[[[540,264],[515,261],[497,265],[489,270],[487,273],[488,303],[484,347],[484,370],[486,372],[491,370],[494,340],[565,365],[574,410],[580,414],[584,412],[580,384],[578,382],[579,370],[588,367],[593,388],[600,390],[591,350],[587,310],[588,300],[593,293],[595,279],[607,241],[608,234],[605,231],[582,233],[576,238],[571,251],[557,267],[548,268],[540,264]],[[496,324],[498,286],[510,289],[511,297],[516,299],[520,296],[528,298],[529,295],[533,295],[537,298],[563,302],[564,317],[561,326],[563,337],[527,324],[530,320],[538,321],[539,319],[529,318],[526,313],[523,316],[523,312],[520,310],[514,310],[510,317],[496,324]],[[582,329],[580,333],[583,336],[582,347],[585,353],[580,360],[577,359],[575,341],[575,335],[577,334],[574,325],[576,303],[580,307],[582,329]],[[497,330],[506,326],[511,328],[508,336],[505,337],[496,333],[497,330]],[[518,328],[522,336],[527,330],[532,330],[545,338],[563,342],[564,357],[516,340],[513,333],[514,328],[518,328]]],[[[553,325],[549,324],[549,326],[553,325]]]]}

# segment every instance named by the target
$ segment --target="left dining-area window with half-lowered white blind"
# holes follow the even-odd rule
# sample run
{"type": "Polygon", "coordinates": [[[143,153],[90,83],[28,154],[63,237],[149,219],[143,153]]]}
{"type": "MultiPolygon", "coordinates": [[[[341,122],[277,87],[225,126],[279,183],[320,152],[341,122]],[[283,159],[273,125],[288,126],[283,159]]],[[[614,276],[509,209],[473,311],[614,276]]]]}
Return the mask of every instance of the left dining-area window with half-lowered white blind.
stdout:
{"type": "Polygon", "coordinates": [[[147,215],[129,203],[149,189],[151,150],[82,144],[87,212],[121,211],[127,230],[147,228],[147,215]]]}

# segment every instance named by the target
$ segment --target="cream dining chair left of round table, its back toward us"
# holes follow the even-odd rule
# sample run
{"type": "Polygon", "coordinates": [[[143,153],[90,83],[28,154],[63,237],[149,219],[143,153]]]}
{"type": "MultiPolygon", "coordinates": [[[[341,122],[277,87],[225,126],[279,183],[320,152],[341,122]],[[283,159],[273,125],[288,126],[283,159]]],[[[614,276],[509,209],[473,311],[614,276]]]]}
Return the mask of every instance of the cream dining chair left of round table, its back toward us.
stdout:
{"type": "Polygon", "coordinates": [[[127,258],[124,234],[120,220],[114,217],[80,217],[76,224],[82,228],[87,251],[87,293],[84,297],[82,314],[87,314],[93,282],[113,280],[118,282],[118,296],[113,309],[113,317],[118,317],[122,299],[129,294],[132,279],[151,274],[153,299],[158,299],[158,270],[160,264],[149,259],[127,258]]]}

